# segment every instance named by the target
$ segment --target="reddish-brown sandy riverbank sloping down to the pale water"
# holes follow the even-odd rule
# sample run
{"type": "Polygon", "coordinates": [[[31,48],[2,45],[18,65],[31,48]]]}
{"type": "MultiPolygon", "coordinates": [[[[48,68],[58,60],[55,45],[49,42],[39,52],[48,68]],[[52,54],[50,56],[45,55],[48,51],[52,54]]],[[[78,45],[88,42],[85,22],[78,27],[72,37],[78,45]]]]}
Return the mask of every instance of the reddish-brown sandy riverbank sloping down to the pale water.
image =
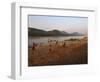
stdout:
{"type": "Polygon", "coordinates": [[[35,50],[28,48],[28,65],[44,66],[88,63],[87,38],[64,42],[65,46],[58,42],[57,44],[38,45],[35,50]]]}

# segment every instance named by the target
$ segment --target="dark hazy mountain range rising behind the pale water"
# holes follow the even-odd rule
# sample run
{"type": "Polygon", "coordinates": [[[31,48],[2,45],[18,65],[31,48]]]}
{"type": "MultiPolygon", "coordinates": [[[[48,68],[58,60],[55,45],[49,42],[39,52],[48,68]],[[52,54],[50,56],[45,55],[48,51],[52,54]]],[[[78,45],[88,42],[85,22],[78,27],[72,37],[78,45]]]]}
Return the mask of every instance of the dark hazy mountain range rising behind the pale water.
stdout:
{"type": "Polygon", "coordinates": [[[59,31],[59,30],[51,30],[51,31],[44,31],[41,29],[36,28],[28,28],[28,35],[29,36],[81,36],[83,34],[78,32],[68,33],[65,31],[59,31]]]}

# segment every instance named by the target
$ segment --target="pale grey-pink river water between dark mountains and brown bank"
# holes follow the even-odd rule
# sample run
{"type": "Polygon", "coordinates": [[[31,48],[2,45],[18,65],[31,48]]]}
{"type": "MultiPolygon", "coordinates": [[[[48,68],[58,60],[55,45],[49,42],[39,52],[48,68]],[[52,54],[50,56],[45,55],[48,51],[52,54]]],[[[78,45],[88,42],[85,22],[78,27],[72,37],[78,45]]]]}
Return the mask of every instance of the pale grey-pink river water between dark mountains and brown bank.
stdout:
{"type": "Polygon", "coordinates": [[[49,36],[49,37],[28,37],[28,46],[31,47],[33,42],[36,44],[47,44],[48,41],[57,40],[57,41],[64,41],[68,39],[81,39],[84,36],[49,36]]]}

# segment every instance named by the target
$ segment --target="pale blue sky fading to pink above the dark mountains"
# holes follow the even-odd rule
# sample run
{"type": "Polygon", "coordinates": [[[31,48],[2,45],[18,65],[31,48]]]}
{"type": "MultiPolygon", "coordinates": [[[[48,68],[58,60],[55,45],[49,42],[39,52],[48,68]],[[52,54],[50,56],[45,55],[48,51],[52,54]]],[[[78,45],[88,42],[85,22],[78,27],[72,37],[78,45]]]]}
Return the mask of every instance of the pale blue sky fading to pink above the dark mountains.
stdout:
{"type": "Polygon", "coordinates": [[[69,33],[79,32],[83,34],[87,34],[88,31],[87,17],[31,15],[29,16],[28,20],[28,27],[33,27],[46,31],[57,29],[69,33]]]}

